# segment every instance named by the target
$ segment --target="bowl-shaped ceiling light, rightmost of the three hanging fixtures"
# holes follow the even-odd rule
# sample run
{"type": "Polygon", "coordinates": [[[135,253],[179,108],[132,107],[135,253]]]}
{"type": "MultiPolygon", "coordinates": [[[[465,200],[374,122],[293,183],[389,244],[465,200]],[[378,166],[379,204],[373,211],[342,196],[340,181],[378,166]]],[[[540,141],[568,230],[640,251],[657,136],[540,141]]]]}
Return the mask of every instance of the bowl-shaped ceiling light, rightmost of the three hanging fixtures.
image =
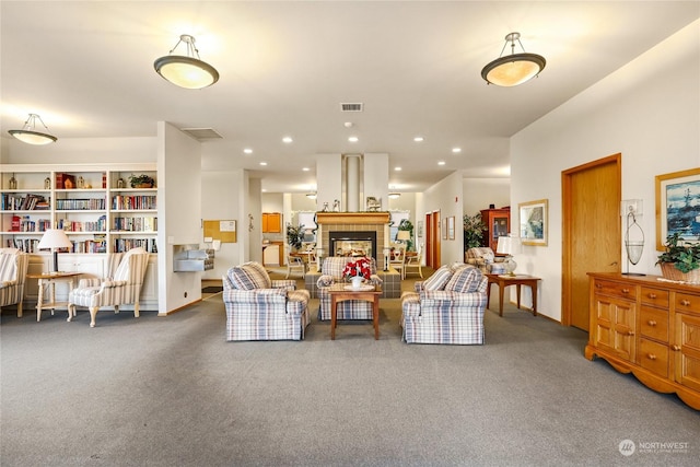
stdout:
{"type": "Polygon", "coordinates": [[[516,86],[537,77],[545,69],[547,60],[537,54],[527,54],[521,43],[521,33],[510,33],[505,36],[505,44],[501,49],[501,57],[497,58],[481,70],[481,78],[489,84],[498,86],[516,86]],[[515,54],[515,43],[523,49],[522,54],[515,54]],[[503,50],[511,44],[511,55],[503,56],[503,50]]]}

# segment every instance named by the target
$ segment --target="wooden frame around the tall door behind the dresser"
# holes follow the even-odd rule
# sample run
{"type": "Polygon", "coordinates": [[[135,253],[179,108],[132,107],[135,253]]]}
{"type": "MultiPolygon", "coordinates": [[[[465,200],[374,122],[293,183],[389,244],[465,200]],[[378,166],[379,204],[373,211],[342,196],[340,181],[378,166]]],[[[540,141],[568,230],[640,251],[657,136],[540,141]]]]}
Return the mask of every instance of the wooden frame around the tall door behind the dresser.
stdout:
{"type": "MultiPolygon", "coordinates": [[[[618,192],[621,191],[622,185],[622,154],[617,153],[612,155],[608,155],[607,157],[598,159],[596,161],[588,162],[583,165],[579,165],[576,167],[572,167],[561,172],[561,324],[562,326],[571,326],[571,288],[572,288],[572,272],[571,267],[573,265],[573,252],[572,252],[572,221],[571,221],[571,206],[572,206],[572,178],[576,173],[587,171],[590,168],[594,168],[602,165],[607,164],[616,164],[617,168],[617,184],[618,184],[618,192]]],[[[617,200],[618,203],[620,200],[617,200]]],[[[620,238],[621,235],[621,226],[618,222],[617,225],[612,229],[617,238],[620,238]]],[[[621,250],[620,258],[618,258],[618,265],[621,261],[621,250]]]]}

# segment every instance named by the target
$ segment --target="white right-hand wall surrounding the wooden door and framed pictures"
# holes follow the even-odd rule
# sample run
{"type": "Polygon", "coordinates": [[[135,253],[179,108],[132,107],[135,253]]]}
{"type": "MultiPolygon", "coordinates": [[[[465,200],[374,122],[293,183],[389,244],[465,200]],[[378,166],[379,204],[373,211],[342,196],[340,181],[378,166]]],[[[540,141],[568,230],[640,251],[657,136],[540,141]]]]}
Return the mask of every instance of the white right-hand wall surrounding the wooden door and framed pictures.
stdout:
{"type": "MultiPolygon", "coordinates": [[[[590,161],[622,154],[622,199],[644,201],[644,253],[630,270],[661,273],[654,266],[654,176],[700,166],[699,83],[696,21],[513,137],[513,223],[520,202],[549,200],[548,246],[526,246],[515,258],[520,271],[542,278],[538,313],[561,319],[561,172],[590,161]]],[[[525,305],[528,294],[524,289],[525,305]]]]}

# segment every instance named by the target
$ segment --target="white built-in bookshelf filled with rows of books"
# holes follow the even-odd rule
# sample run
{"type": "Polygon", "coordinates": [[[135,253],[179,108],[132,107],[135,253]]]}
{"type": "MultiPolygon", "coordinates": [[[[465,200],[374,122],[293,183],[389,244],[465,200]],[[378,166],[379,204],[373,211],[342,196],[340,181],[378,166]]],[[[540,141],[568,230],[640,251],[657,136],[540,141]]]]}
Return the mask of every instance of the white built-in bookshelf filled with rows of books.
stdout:
{"type": "Polygon", "coordinates": [[[158,188],[131,187],[145,174],[158,183],[155,164],[0,165],[0,237],[3,247],[39,253],[47,229],[61,229],[75,254],[158,252],[158,188]]]}

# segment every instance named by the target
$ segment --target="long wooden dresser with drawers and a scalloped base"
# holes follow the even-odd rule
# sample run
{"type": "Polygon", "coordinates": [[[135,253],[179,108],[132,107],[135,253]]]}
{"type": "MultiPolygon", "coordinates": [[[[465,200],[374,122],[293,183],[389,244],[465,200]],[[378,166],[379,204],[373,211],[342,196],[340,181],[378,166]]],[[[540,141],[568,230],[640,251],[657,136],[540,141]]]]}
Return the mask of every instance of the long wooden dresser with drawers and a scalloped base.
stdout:
{"type": "Polygon", "coordinates": [[[700,410],[700,287],[590,272],[585,357],[700,410]]]}

